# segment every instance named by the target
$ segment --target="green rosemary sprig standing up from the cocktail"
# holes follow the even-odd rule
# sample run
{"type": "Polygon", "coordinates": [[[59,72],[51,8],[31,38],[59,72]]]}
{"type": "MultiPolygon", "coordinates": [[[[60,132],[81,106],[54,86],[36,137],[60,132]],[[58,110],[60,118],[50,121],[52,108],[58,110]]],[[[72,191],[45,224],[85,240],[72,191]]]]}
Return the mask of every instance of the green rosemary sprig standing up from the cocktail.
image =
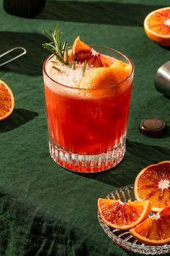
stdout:
{"type": "Polygon", "coordinates": [[[44,30],[46,37],[50,40],[50,43],[43,43],[43,48],[46,48],[52,54],[55,55],[56,59],[60,61],[63,65],[69,65],[68,59],[68,43],[65,40],[64,43],[61,42],[61,31],[58,30],[58,26],[55,27],[54,32],[50,29],[48,31],[44,30]]]}

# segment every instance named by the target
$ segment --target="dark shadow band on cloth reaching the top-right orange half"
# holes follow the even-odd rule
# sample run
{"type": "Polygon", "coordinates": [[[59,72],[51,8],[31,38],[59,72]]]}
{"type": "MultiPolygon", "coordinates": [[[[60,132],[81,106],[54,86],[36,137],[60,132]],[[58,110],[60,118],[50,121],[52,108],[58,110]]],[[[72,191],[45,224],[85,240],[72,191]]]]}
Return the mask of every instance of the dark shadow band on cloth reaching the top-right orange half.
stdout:
{"type": "Polygon", "coordinates": [[[35,19],[143,27],[146,15],[164,6],[107,1],[47,1],[35,19]]]}

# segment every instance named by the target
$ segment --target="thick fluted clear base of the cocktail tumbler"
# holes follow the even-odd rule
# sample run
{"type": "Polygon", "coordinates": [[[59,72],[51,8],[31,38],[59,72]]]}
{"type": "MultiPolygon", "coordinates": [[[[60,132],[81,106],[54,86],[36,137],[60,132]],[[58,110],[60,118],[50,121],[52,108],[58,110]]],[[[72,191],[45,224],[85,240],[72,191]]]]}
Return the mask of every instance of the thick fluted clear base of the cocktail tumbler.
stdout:
{"type": "Polygon", "coordinates": [[[125,138],[120,145],[99,155],[80,155],[49,142],[50,155],[63,168],[81,173],[107,171],[117,166],[125,155],[125,138]]]}

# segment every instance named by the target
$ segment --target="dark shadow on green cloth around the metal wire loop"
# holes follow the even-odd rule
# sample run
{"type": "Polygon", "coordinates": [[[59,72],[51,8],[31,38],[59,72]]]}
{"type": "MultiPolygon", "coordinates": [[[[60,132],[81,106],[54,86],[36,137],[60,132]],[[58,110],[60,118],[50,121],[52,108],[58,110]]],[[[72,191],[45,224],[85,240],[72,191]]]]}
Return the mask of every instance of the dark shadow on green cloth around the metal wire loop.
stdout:
{"type": "MultiPolygon", "coordinates": [[[[49,56],[48,51],[42,48],[42,43],[47,39],[38,33],[19,33],[19,32],[0,32],[1,49],[0,54],[11,48],[22,46],[26,48],[27,54],[19,59],[10,62],[1,67],[3,72],[16,72],[19,74],[28,74],[33,76],[42,76],[43,61],[49,56]]],[[[21,53],[21,51],[19,51],[21,53]]],[[[1,62],[7,61],[12,56],[17,56],[17,51],[12,52],[1,58],[1,62]]]]}

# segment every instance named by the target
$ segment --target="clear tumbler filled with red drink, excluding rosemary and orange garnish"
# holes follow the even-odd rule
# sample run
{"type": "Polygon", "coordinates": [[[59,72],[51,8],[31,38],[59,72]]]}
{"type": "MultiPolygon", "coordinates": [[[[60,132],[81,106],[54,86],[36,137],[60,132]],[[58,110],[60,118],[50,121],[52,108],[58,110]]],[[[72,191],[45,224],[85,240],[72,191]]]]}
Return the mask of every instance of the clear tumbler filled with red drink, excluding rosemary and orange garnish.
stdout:
{"type": "Polygon", "coordinates": [[[124,54],[102,46],[94,50],[130,64],[129,76],[117,85],[80,89],[62,85],[43,64],[49,148],[60,166],[84,173],[106,171],[125,155],[133,63],[124,54]]]}

